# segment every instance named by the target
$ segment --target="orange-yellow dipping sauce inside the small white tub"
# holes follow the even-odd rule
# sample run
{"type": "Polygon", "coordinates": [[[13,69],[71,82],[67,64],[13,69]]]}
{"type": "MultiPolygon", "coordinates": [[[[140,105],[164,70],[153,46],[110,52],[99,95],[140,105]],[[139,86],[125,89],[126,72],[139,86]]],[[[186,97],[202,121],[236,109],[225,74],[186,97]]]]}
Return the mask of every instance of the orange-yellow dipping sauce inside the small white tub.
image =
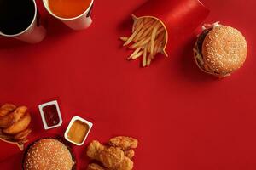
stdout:
{"type": "Polygon", "coordinates": [[[79,120],[73,122],[70,127],[67,138],[72,140],[76,144],[81,144],[84,141],[86,134],[89,131],[89,126],[79,120]]]}

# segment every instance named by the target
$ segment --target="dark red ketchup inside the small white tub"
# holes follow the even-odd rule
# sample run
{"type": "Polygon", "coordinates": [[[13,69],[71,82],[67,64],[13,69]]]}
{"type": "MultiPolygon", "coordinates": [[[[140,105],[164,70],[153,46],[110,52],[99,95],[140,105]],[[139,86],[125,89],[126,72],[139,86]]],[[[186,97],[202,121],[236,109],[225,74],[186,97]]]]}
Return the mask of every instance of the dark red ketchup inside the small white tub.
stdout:
{"type": "Polygon", "coordinates": [[[45,122],[48,127],[53,127],[60,122],[58,111],[55,105],[47,105],[43,108],[45,122]]]}

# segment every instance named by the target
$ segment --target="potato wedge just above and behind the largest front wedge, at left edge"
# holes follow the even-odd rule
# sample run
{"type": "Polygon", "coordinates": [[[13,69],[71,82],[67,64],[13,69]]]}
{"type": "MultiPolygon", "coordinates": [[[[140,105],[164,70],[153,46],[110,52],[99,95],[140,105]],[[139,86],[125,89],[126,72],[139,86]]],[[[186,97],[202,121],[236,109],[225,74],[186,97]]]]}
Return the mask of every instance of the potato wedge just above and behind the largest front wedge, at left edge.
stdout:
{"type": "Polygon", "coordinates": [[[18,122],[20,118],[25,115],[26,110],[26,106],[20,106],[17,107],[15,111],[0,117],[0,127],[6,128],[13,125],[15,122],[18,122]]]}

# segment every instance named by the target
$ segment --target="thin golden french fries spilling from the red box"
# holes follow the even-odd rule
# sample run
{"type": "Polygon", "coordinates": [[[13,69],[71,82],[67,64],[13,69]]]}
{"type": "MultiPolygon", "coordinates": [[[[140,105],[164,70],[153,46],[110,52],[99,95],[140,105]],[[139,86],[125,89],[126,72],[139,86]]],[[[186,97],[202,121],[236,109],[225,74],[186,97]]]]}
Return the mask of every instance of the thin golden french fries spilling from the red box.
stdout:
{"type": "Polygon", "coordinates": [[[154,18],[143,17],[135,18],[131,37],[120,37],[124,41],[124,46],[130,45],[129,48],[134,52],[127,58],[138,59],[143,57],[143,67],[149,66],[154,56],[163,53],[166,45],[166,30],[163,24],[154,18]]]}

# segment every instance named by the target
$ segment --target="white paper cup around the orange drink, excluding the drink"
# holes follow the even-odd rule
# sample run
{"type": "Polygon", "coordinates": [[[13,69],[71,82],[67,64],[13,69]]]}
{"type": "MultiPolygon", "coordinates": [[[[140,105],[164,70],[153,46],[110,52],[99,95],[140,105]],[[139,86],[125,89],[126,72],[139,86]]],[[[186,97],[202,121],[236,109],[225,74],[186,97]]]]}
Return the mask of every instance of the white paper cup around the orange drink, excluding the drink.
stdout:
{"type": "Polygon", "coordinates": [[[90,6],[84,11],[83,14],[80,14],[79,16],[76,16],[73,18],[62,18],[53,14],[53,12],[49,8],[48,1],[49,0],[43,0],[44,7],[49,12],[49,14],[54,16],[56,19],[61,20],[64,24],[66,24],[68,27],[72,28],[73,30],[84,30],[91,25],[92,20],[91,20],[90,14],[93,8],[94,0],[91,0],[90,6]]]}

